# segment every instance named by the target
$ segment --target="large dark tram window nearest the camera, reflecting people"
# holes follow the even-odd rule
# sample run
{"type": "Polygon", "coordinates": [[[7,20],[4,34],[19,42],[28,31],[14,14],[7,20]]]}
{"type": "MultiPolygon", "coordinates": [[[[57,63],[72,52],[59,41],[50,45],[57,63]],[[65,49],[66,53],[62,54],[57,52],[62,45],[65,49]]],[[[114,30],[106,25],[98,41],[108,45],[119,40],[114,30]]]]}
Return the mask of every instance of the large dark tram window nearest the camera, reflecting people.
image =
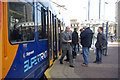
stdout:
{"type": "Polygon", "coordinates": [[[8,14],[11,43],[35,39],[33,6],[25,2],[9,2],[8,14]]]}

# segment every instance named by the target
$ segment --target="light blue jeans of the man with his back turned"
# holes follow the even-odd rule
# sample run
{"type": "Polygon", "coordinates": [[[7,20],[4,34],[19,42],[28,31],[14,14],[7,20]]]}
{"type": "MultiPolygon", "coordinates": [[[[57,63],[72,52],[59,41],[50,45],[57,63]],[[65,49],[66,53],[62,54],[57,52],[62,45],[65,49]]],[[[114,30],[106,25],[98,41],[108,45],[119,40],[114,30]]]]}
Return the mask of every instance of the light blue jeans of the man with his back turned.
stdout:
{"type": "Polygon", "coordinates": [[[90,48],[88,48],[88,47],[82,48],[85,65],[89,64],[89,50],[90,50],[90,48]]]}

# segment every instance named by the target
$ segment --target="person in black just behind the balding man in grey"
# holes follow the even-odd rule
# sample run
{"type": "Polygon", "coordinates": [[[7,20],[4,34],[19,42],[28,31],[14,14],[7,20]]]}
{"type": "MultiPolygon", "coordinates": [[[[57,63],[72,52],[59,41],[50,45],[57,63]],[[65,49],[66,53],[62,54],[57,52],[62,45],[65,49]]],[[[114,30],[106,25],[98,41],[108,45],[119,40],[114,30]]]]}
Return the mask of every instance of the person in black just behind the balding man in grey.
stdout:
{"type": "Polygon", "coordinates": [[[78,54],[78,33],[77,28],[74,28],[74,32],[72,33],[72,44],[73,44],[73,58],[78,54]]]}

